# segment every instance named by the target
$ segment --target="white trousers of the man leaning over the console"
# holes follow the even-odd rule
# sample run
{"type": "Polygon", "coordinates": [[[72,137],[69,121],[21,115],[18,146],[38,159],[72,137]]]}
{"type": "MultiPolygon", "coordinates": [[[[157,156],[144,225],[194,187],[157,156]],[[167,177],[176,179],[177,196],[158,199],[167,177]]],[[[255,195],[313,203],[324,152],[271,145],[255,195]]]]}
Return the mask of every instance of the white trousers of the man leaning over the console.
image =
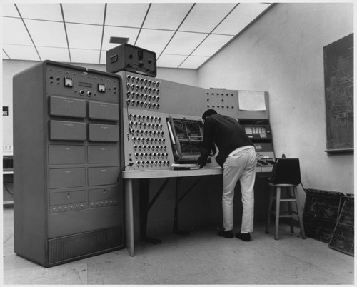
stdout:
{"type": "Polygon", "coordinates": [[[241,232],[253,232],[254,182],[256,181],[255,148],[244,149],[228,156],[223,164],[223,228],[233,229],[233,198],[237,181],[241,182],[243,215],[241,232]]]}

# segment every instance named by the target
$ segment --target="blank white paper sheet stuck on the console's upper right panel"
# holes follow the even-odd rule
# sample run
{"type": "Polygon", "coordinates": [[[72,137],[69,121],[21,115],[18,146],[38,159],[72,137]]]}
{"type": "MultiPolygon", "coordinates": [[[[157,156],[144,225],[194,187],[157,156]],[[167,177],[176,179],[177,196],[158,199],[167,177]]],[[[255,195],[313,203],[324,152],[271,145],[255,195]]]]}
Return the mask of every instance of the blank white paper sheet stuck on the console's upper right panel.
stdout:
{"type": "Polygon", "coordinates": [[[238,103],[242,111],[266,111],[263,91],[239,91],[238,103]]]}

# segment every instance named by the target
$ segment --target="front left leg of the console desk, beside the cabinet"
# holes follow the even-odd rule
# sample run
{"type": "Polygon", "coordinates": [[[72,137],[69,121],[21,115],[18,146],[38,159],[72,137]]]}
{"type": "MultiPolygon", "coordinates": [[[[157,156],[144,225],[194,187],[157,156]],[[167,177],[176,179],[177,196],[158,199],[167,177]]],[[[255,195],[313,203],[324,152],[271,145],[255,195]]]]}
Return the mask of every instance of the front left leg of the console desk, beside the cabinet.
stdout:
{"type": "Polygon", "coordinates": [[[134,256],[134,212],[133,212],[133,181],[125,180],[125,229],[126,249],[134,256]]]}

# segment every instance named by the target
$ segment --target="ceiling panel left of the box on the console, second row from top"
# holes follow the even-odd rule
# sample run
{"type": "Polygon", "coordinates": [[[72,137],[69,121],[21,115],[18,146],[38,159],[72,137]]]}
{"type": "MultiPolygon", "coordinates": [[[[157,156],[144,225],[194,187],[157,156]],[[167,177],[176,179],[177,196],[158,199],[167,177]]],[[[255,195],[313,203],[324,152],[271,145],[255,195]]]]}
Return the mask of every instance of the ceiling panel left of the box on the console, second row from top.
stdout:
{"type": "Polygon", "coordinates": [[[77,49],[101,49],[102,26],[66,24],[69,46],[77,49]]]}

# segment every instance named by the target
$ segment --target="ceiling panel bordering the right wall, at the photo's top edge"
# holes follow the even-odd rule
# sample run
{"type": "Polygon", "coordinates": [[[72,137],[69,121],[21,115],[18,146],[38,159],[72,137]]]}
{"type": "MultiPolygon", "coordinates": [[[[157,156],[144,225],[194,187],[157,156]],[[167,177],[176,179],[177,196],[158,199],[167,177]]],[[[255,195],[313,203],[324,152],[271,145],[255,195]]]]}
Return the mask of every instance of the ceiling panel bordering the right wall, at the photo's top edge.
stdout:
{"type": "Polygon", "coordinates": [[[270,4],[241,3],[231,14],[213,31],[214,34],[238,34],[253,19],[266,10],[270,4]]]}

